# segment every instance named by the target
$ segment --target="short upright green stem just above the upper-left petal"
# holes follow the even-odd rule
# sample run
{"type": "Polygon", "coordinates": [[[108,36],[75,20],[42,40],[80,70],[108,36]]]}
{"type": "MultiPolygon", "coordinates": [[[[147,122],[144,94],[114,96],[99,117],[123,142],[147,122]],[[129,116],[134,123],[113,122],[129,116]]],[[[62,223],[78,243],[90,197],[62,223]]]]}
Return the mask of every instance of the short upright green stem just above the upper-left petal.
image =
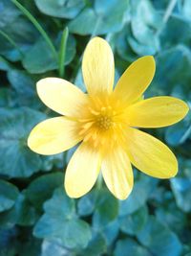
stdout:
{"type": "Polygon", "coordinates": [[[69,30],[68,30],[68,27],[66,27],[62,34],[60,50],[59,50],[59,77],[60,78],[64,77],[64,71],[65,71],[64,62],[66,58],[66,45],[67,45],[68,36],[69,36],[69,30]]]}

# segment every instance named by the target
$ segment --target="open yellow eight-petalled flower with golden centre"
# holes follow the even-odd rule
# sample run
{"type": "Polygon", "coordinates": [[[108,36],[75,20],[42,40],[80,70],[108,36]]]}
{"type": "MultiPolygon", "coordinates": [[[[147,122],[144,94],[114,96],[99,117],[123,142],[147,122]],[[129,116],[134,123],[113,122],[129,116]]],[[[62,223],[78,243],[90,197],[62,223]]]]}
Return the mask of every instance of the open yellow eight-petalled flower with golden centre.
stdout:
{"type": "Polygon", "coordinates": [[[170,126],[188,112],[188,106],[173,97],[140,100],[154,77],[155,59],[138,58],[114,89],[112,50],[107,41],[95,37],[86,47],[82,73],[88,94],[62,79],[37,82],[42,102],[62,116],[38,124],[28,139],[32,151],[47,155],[67,151],[82,141],[66,170],[67,194],[79,198],[88,193],[101,170],[109,190],[125,199],[134,183],[131,163],[146,175],[176,175],[173,152],[138,129],[170,126]]]}

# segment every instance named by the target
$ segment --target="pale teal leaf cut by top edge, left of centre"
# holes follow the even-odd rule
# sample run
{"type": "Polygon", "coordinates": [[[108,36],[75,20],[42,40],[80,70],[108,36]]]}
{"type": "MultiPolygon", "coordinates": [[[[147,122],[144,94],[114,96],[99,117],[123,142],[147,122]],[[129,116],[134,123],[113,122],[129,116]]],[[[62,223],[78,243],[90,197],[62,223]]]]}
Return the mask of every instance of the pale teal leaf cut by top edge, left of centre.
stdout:
{"type": "Polygon", "coordinates": [[[41,12],[60,18],[74,18],[84,8],[81,0],[35,0],[35,4],[41,12]]]}

